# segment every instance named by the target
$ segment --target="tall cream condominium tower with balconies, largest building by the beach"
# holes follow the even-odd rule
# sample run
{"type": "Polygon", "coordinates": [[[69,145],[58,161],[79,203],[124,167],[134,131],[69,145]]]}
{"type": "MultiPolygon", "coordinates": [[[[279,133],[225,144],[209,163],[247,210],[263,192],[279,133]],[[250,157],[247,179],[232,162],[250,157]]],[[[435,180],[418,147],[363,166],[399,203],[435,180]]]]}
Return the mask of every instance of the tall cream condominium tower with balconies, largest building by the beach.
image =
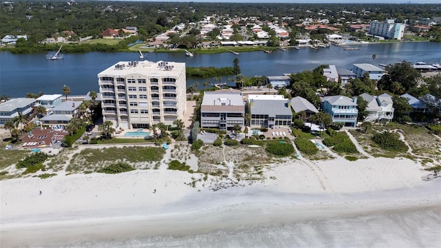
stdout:
{"type": "Polygon", "coordinates": [[[185,63],[122,61],[98,74],[104,121],[139,128],[183,118],[185,63]]]}

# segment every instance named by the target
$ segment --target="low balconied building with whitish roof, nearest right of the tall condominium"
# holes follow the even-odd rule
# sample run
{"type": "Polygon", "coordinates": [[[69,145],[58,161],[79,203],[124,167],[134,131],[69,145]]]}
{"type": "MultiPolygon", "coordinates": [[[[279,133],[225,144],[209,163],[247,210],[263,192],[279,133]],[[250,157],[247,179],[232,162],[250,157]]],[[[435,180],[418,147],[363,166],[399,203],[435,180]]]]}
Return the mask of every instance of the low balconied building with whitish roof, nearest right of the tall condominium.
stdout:
{"type": "Polygon", "coordinates": [[[201,104],[201,127],[231,130],[245,123],[245,103],[242,92],[205,92],[201,104]]]}

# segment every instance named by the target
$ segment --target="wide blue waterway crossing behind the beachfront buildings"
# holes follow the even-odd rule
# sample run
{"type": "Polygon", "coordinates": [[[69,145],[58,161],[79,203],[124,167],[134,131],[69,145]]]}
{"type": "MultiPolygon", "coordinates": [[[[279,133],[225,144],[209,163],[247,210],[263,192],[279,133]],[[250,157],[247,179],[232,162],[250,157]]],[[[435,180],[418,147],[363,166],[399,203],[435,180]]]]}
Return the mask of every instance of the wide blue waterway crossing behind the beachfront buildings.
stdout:
{"type": "MultiPolygon", "coordinates": [[[[145,54],[149,61],[184,62],[189,67],[214,66],[227,67],[239,59],[240,69],[245,76],[280,76],[284,73],[313,70],[322,64],[333,64],[337,68],[351,68],[353,63],[389,64],[400,61],[441,61],[441,43],[387,43],[360,45],[360,50],[330,48],[276,50],[265,52],[241,52],[222,54],[145,54]],[[376,54],[376,59],[372,55],[376,54]]],[[[12,97],[25,96],[28,92],[61,94],[63,85],[68,85],[71,94],[86,94],[90,90],[98,92],[97,74],[119,61],[137,61],[137,52],[88,52],[83,54],[64,54],[64,59],[48,61],[45,53],[10,54],[0,52],[0,95],[12,97]]],[[[235,76],[225,76],[223,82],[234,85],[235,76]]],[[[187,79],[187,85],[198,81],[214,82],[214,79],[187,79]]]]}

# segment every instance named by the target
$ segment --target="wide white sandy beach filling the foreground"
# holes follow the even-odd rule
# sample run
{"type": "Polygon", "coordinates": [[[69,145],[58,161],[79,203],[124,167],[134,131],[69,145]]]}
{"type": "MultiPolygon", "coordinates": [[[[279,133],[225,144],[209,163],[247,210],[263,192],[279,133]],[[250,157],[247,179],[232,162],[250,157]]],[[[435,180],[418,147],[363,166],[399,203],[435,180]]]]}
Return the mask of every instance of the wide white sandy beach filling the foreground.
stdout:
{"type": "Polygon", "coordinates": [[[416,161],[286,161],[265,174],[217,191],[231,178],[197,180],[163,166],[1,180],[1,247],[441,244],[441,180],[425,181],[416,161]]]}

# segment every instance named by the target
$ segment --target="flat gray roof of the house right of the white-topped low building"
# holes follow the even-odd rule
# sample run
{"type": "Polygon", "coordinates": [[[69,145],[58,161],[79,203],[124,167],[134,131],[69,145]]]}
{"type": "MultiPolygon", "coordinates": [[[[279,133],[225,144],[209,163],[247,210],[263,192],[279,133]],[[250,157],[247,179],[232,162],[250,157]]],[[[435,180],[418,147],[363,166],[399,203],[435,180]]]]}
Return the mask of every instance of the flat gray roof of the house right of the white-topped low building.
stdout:
{"type": "Polygon", "coordinates": [[[288,107],[289,99],[285,100],[253,100],[251,114],[268,114],[269,116],[292,115],[288,107]]]}

